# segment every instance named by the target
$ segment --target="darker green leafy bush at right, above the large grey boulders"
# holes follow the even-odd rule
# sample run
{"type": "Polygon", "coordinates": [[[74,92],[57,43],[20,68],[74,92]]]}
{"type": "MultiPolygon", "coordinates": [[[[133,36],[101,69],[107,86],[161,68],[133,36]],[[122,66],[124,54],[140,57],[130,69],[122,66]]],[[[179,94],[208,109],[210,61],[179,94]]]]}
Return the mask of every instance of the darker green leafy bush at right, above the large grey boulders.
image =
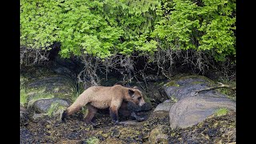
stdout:
{"type": "Polygon", "coordinates": [[[235,2],[231,0],[163,1],[153,36],[175,49],[208,50],[217,61],[235,55],[235,2]]]}

